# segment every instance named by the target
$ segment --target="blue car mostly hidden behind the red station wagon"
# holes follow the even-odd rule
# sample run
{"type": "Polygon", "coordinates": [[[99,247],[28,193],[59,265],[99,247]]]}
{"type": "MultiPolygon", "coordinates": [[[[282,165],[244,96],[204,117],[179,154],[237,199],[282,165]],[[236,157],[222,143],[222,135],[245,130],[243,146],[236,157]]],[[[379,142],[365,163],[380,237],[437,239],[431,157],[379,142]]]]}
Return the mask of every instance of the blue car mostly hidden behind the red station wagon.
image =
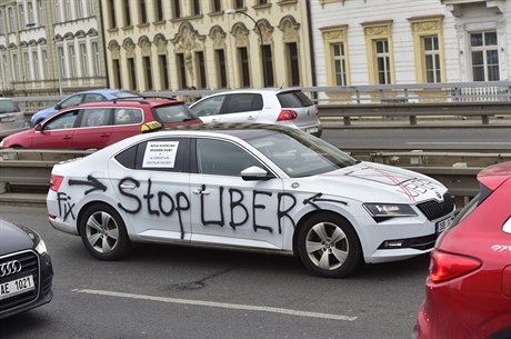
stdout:
{"type": "Polygon", "coordinates": [[[43,109],[30,119],[30,127],[34,127],[46,118],[50,117],[54,112],[84,102],[98,102],[98,101],[108,101],[120,98],[136,98],[141,97],[140,93],[123,89],[93,89],[83,92],[78,92],[66,97],[59,101],[56,106],[43,109]]]}

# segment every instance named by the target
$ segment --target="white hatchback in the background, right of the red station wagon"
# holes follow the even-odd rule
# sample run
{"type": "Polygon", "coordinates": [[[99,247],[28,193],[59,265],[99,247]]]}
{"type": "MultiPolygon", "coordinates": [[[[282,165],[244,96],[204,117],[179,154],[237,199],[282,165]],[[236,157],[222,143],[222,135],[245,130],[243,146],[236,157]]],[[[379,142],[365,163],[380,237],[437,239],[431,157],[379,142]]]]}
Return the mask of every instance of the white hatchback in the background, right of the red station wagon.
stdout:
{"type": "Polygon", "coordinates": [[[321,136],[318,107],[297,89],[236,90],[214,93],[190,109],[206,123],[278,123],[321,136]]]}

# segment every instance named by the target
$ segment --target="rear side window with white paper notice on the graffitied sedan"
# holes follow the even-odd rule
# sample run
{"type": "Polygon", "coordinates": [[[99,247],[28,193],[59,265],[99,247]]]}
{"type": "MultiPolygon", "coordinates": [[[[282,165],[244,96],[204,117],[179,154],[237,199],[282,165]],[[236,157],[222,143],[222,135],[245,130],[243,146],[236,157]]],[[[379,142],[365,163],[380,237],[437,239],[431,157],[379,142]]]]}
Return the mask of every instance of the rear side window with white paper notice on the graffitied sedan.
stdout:
{"type": "Polygon", "coordinates": [[[139,143],[136,169],[188,172],[190,168],[190,140],[161,138],[139,143]]]}

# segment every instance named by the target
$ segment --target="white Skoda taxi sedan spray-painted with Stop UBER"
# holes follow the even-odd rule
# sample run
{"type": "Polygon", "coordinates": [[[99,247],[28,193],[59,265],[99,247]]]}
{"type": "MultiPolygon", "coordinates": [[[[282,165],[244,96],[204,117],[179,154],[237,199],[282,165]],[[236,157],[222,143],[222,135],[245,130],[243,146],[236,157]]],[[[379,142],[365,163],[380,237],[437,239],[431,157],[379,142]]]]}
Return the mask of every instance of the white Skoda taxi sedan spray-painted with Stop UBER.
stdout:
{"type": "Polygon", "coordinates": [[[102,260],[131,242],[295,255],[344,277],[429,252],[452,218],[444,186],[357,161],[297,129],[213,124],[136,136],[53,167],[49,220],[102,260]]]}

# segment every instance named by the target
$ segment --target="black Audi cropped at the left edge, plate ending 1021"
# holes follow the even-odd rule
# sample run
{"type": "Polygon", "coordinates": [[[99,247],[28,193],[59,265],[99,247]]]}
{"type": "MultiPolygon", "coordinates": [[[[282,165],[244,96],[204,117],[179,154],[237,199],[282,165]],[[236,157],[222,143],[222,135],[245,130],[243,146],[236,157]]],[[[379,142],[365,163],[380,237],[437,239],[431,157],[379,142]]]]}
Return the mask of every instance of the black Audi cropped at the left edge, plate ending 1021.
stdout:
{"type": "Polygon", "coordinates": [[[50,302],[52,279],[41,237],[0,220],[0,319],[50,302]]]}

